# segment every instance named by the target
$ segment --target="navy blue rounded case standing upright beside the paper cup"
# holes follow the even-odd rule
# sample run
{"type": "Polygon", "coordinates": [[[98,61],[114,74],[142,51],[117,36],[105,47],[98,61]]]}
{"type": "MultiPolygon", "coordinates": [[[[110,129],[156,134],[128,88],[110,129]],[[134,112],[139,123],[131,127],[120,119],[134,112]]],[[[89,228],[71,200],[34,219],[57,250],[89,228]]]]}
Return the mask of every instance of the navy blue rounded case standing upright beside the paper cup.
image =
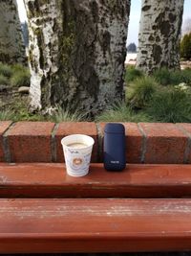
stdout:
{"type": "Polygon", "coordinates": [[[105,126],[103,153],[107,171],[125,169],[125,128],[122,124],[109,123],[105,126]]]}

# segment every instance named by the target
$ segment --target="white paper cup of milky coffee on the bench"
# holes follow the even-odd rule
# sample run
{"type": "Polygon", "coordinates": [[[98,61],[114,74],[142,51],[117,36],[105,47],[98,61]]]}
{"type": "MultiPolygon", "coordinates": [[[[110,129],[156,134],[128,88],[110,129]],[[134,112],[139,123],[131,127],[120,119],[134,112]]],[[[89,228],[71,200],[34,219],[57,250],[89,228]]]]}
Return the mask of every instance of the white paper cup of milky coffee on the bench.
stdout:
{"type": "Polygon", "coordinates": [[[87,175],[95,140],[84,134],[74,134],[64,137],[61,144],[67,174],[71,176],[87,175]]]}

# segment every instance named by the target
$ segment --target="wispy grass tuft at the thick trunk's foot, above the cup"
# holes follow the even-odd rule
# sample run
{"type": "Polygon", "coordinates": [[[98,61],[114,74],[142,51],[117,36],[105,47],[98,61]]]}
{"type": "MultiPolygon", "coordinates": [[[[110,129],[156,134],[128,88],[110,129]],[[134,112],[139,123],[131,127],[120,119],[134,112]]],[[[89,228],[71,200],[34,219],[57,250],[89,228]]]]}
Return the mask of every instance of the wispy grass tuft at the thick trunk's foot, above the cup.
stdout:
{"type": "Polygon", "coordinates": [[[85,114],[79,113],[78,110],[71,111],[69,107],[62,109],[60,106],[57,107],[57,110],[52,117],[48,117],[54,123],[61,122],[80,122],[85,118],[85,114]]]}

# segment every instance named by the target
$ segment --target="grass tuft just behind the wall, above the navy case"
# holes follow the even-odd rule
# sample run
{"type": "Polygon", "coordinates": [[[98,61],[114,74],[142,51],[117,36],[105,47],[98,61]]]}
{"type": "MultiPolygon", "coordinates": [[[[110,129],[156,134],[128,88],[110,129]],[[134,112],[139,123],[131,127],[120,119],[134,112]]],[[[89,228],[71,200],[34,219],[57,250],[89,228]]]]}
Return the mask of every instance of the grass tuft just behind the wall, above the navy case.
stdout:
{"type": "Polygon", "coordinates": [[[149,122],[148,114],[143,112],[136,113],[128,105],[122,103],[111,109],[104,111],[96,117],[96,122],[149,122]]]}

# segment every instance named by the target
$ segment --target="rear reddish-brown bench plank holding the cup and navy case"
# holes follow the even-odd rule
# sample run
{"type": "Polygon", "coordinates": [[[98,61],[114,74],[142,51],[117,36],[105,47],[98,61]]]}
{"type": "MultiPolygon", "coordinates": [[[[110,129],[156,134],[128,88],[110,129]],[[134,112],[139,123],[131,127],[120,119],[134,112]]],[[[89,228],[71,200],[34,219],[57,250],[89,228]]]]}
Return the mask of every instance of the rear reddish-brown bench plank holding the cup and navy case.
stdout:
{"type": "Polygon", "coordinates": [[[92,164],[72,177],[63,164],[0,164],[1,198],[176,198],[191,196],[191,165],[127,165],[109,173],[92,164]]]}

